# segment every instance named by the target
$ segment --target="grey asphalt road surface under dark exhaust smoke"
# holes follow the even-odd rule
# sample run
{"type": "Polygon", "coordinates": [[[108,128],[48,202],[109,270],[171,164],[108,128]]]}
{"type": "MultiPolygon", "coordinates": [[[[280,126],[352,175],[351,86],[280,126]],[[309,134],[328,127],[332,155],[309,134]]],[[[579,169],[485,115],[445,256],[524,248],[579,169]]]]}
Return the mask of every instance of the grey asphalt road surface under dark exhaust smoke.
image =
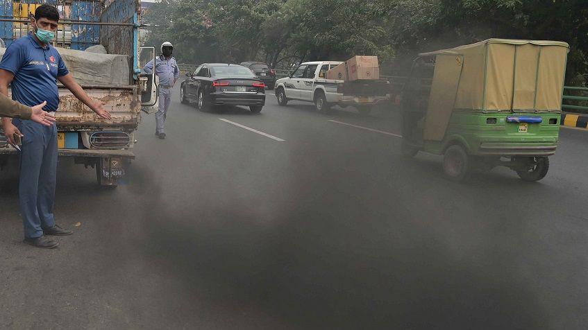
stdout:
{"type": "Polygon", "coordinates": [[[22,243],[0,180],[0,328],[582,329],[588,132],[562,129],[548,176],[467,184],[400,153],[398,114],[198,112],[167,139],[144,116],[129,182],[59,164],[56,250],[22,243]],[[78,227],[74,224],[80,223],[78,227]]]}

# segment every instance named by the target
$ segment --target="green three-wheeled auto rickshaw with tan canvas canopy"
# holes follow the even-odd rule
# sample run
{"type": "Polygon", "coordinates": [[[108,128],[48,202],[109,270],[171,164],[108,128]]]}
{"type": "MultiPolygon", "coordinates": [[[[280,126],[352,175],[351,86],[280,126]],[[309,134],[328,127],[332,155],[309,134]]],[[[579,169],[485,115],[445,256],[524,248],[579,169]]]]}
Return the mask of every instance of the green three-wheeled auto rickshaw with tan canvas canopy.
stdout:
{"type": "Polygon", "coordinates": [[[454,181],[495,166],[541,180],[557,148],[568,51],[489,39],[420,54],[402,92],[403,155],[444,155],[454,181]]]}

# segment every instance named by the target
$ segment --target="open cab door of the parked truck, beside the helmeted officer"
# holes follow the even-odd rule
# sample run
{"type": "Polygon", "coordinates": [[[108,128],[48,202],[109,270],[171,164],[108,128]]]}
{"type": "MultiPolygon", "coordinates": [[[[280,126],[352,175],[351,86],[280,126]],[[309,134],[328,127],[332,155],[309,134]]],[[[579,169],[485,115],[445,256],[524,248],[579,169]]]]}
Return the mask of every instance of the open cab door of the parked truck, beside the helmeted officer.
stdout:
{"type": "Polygon", "coordinates": [[[152,114],[158,109],[159,103],[159,78],[155,74],[156,48],[153,46],[140,47],[140,59],[146,62],[153,60],[153,71],[142,72],[139,75],[139,86],[141,92],[141,110],[146,114],[152,114]]]}

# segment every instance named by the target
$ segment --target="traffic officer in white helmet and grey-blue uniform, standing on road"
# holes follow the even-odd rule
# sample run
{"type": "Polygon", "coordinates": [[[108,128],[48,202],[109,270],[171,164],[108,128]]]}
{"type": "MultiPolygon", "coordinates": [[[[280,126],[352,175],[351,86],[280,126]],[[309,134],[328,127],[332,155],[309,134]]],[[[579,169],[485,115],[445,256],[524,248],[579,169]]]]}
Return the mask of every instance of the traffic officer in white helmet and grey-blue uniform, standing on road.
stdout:
{"type": "MultiPolygon", "coordinates": [[[[165,119],[167,109],[171,103],[171,89],[180,78],[180,70],[176,59],[171,57],[174,46],[171,42],[161,44],[161,55],[156,58],[155,73],[159,77],[159,107],[156,112],[156,135],[165,139],[165,119]]],[[[147,63],[143,69],[146,73],[153,72],[153,61],[147,63]]]]}

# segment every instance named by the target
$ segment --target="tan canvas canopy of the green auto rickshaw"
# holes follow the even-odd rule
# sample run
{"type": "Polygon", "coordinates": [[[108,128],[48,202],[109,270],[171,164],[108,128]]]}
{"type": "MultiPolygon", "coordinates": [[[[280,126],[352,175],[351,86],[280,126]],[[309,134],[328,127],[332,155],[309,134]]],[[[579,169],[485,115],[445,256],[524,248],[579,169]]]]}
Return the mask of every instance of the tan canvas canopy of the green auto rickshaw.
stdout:
{"type": "Polygon", "coordinates": [[[425,139],[441,140],[453,110],[560,112],[569,44],[489,39],[435,56],[425,139]]]}

